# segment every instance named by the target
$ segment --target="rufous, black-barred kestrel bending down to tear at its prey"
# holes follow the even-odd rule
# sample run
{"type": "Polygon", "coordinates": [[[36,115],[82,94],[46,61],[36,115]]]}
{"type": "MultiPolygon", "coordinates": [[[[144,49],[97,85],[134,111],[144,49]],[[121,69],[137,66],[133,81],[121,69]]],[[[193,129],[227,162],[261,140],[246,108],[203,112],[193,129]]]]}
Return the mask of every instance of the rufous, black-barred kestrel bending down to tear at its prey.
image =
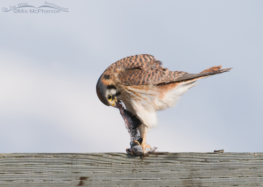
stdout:
{"type": "Polygon", "coordinates": [[[97,82],[97,96],[107,106],[117,107],[122,101],[132,115],[140,121],[137,127],[142,138],[143,154],[148,128],[157,126],[157,111],[174,107],[179,97],[194,82],[211,75],[226,72],[213,66],[200,73],[169,71],[152,55],[133,55],[111,64],[97,82]]]}

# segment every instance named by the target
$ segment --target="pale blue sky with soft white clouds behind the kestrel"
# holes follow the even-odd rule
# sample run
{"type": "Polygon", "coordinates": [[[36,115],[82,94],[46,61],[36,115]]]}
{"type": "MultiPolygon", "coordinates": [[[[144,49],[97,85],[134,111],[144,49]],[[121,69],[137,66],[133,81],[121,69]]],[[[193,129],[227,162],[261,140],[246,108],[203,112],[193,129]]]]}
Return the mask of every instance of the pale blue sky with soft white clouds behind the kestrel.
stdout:
{"type": "Polygon", "coordinates": [[[119,111],[102,104],[95,87],[111,63],[136,54],[173,71],[234,67],[158,112],[149,145],[263,151],[262,1],[50,3],[69,12],[0,12],[0,152],[125,152],[130,140],[119,111]]]}

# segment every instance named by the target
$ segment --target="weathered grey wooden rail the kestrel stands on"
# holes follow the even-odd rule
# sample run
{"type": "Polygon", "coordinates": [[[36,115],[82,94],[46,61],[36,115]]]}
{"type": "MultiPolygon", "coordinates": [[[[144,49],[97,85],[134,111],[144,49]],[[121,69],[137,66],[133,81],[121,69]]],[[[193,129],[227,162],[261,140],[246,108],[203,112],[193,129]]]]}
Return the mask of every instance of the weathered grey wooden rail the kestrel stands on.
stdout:
{"type": "Polygon", "coordinates": [[[263,153],[5,153],[0,186],[263,186],[263,153]]]}

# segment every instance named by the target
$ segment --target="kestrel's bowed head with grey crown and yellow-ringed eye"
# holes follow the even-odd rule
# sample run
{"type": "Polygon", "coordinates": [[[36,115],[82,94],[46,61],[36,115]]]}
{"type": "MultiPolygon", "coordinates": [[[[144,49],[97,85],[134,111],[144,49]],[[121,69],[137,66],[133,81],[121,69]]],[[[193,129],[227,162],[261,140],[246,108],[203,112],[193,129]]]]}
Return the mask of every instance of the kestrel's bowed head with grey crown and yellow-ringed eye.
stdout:
{"type": "Polygon", "coordinates": [[[115,106],[115,103],[118,101],[117,96],[119,95],[119,92],[117,92],[117,88],[113,84],[106,84],[102,75],[97,82],[96,91],[98,98],[103,104],[117,107],[115,106]]]}

